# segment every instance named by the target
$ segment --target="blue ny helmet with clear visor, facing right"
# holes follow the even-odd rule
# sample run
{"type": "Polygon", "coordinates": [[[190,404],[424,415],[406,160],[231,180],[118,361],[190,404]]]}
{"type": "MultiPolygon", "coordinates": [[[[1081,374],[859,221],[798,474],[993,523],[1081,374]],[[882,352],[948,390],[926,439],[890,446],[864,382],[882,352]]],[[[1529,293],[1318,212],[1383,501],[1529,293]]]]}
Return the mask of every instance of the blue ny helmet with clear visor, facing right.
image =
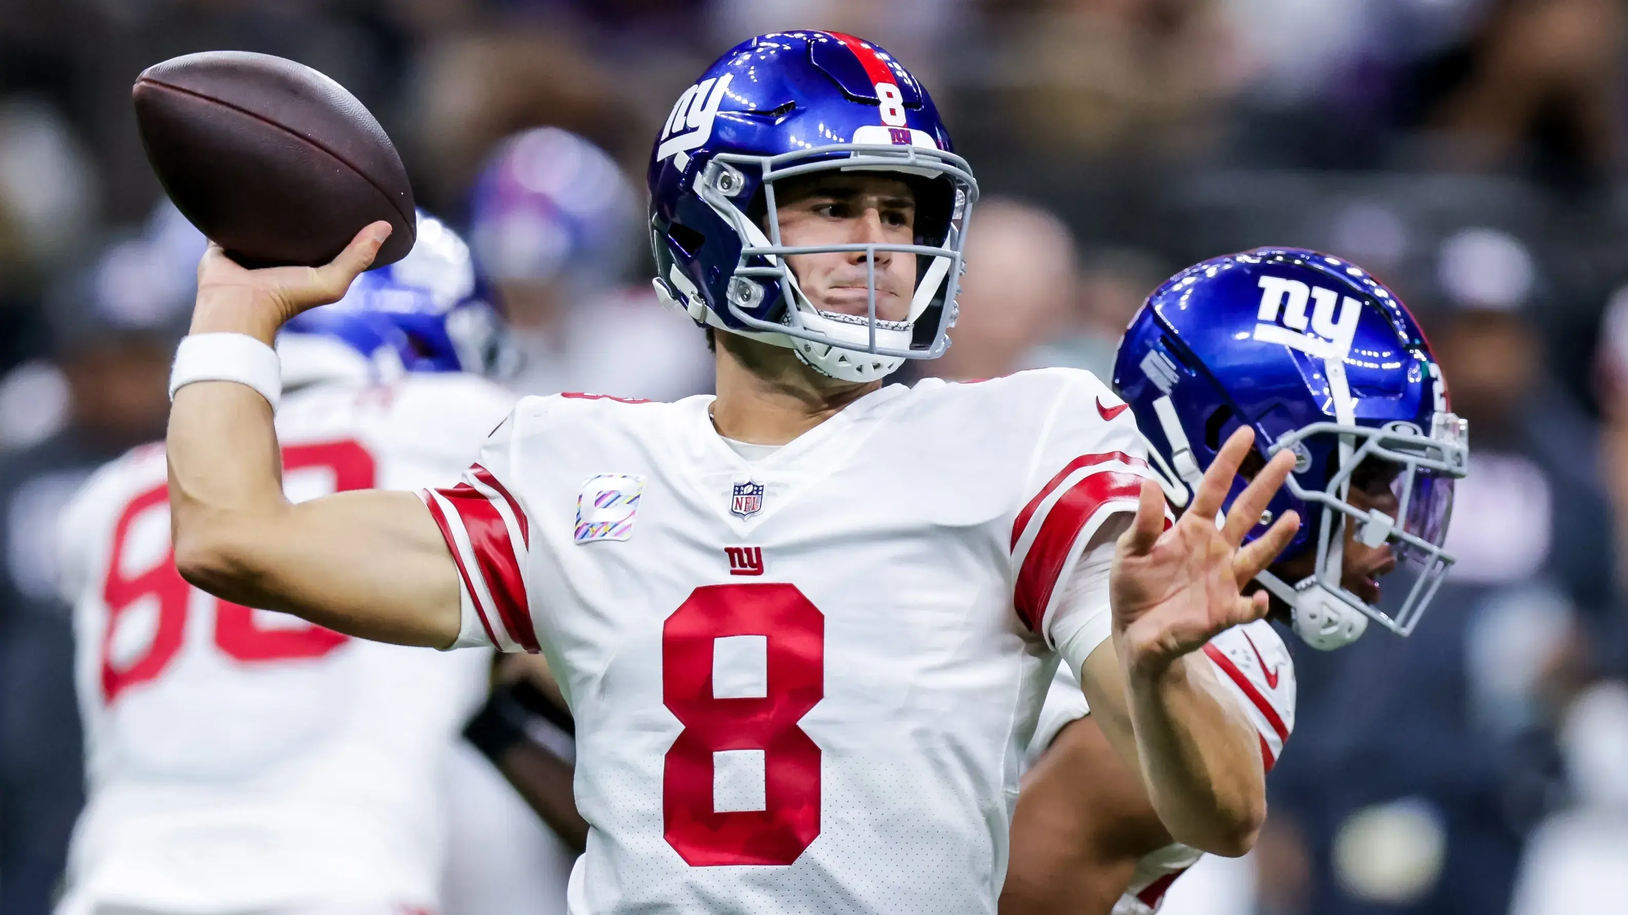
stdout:
{"type": "MultiPolygon", "coordinates": [[[[1454,479],[1464,476],[1465,421],[1407,306],[1350,262],[1299,249],[1257,249],[1177,273],[1141,307],[1120,341],[1114,387],[1151,444],[1166,494],[1187,505],[1203,470],[1239,424],[1265,458],[1296,455],[1288,484],[1250,538],[1294,509],[1301,528],[1283,551],[1315,551],[1312,575],[1258,580],[1289,605],[1307,644],[1333,648],[1377,619],[1407,635],[1441,585],[1454,479]],[[1389,462],[1397,518],[1346,496],[1363,462],[1389,462]],[[1384,611],[1341,585],[1345,530],[1389,543],[1418,579],[1384,611]],[[1366,616],[1364,616],[1366,614],[1366,616]]],[[[1232,484],[1229,502],[1245,486],[1232,484]]]]}

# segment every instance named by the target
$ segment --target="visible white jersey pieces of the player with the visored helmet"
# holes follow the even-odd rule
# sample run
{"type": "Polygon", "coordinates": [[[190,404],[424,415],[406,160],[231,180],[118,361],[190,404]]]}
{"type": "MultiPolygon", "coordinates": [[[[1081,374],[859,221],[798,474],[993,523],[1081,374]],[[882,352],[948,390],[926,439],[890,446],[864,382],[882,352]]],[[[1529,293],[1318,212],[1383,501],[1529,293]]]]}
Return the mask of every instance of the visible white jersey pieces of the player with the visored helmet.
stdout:
{"type": "MultiPolygon", "coordinates": [[[[1255,733],[1260,736],[1260,759],[1267,772],[1271,772],[1271,765],[1283,754],[1284,741],[1294,730],[1294,660],[1288,645],[1270,622],[1257,619],[1216,635],[1203,647],[1203,653],[1214,665],[1228,692],[1237,699],[1255,725],[1255,733]]],[[[1068,665],[1058,665],[1052,689],[1045,696],[1045,707],[1040,710],[1040,723],[1029,743],[1026,769],[1045,754],[1065,725],[1089,713],[1091,707],[1079,691],[1079,681],[1068,665]]],[[[1203,852],[1179,842],[1151,852],[1136,863],[1130,887],[1114,905],[1112,915],[1153,915],[1175,878],[1201,856],[1203,852]]]]}

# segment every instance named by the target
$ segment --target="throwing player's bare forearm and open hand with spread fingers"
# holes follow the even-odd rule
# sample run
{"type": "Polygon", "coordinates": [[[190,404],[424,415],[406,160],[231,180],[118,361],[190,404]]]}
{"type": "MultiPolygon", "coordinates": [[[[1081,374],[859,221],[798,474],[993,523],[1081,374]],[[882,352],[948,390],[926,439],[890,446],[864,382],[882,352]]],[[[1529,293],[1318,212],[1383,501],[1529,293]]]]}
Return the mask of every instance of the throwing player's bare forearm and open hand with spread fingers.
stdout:
{"type": "Polygon", "coordinates": [[[1267,463],[1216,512],[1252,432],[1234,432],[1205,473],[1193,504],[1164,530],[1164,492],[1144,481],[1136,520],[1114,559],[1114,650],[1088,658],[1081,683],[1115,749],[1140,767],[1148,796],[1171,835],[1218,855],[1242,855],[1267,817],[1267,790],[1254,728],[1197,648],[1218,632],[1267,614],[1267,595],[1245,596],[1255,577],[1299,527],[1294,512],[1239,546],[1294,466],[1291,453],[1267,463]]]}

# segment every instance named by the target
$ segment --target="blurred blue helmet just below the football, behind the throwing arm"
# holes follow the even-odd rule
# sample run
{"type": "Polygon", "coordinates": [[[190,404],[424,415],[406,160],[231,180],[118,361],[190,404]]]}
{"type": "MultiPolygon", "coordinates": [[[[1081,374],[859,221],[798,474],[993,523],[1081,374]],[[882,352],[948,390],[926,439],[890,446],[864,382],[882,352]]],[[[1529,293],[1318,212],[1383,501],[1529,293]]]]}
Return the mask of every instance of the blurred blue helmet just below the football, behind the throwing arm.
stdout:
{"type": "Polygon", "coordinates": [[[404,371],[490,375],[508,367],[511,353],[469,245],[422,210],[412,254],[363,273],[332,306],[285,323],[278,349],[285,345],[293,345],[283,356],[285,384],[335,374],[387,380],[404,371]],[[301,346],[308,341],[317,345],[301,346]]]}

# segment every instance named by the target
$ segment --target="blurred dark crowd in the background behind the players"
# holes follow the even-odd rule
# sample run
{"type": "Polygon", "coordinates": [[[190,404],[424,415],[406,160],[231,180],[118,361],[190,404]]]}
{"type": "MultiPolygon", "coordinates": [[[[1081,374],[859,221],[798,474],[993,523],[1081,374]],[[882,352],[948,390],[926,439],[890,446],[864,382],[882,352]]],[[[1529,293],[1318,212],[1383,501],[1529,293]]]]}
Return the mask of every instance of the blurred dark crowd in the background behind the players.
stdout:
{"type": "Polygon", "coordinates": [[[521,390],[676,398],[711,362],[650,293],[650,138],[775,28],[892,50],[977,171],[954,346],[917,371],[1107,375],[1166,275],[1288,244],[1384,276],[1470,419],[1449,583],[1408,640],[1291,642],[1268,830],[1172,910],[1628,912],[1620,0],[0,0],[0,915],[49,910],[81,800],[55,512],[161,437],[200,245],[135,75],[329,73],[466,231],[521,390]]]}

